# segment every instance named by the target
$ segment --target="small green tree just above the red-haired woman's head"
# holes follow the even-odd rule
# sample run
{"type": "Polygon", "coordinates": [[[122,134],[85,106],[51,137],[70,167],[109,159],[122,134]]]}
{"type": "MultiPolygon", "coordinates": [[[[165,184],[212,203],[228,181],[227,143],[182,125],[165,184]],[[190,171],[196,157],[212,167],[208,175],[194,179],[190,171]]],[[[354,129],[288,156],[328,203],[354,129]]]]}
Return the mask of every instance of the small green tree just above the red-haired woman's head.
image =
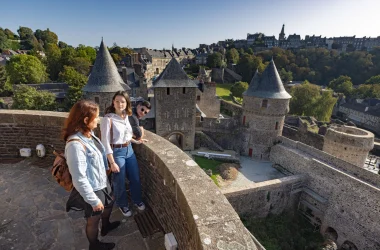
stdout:
{"type": "Polygon", "coordinates": [[[69,85],[66,106],[69,109],[82,98],[82,88],[86,85],[87,77],[77,72],[73,67],[64,66],[59,79],[69,85]]]}

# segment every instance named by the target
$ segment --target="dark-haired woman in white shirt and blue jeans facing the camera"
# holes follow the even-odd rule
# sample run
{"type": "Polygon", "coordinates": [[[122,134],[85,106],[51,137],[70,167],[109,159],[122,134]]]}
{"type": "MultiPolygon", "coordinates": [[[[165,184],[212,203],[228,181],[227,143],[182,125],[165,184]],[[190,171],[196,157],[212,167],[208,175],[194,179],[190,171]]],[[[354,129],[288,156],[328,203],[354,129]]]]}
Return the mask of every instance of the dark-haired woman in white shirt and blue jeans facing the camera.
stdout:
{"type": "Polygon", "coordinates": [[[106,154],[113,172],[112,184],[115,192],[116,205],[124,216],[131,216],[132,211],[128,207],[125,178],[129,180],[132,201],[135,206],[143,211],[145,205],[141,200],[140,171],[131,142],[142,143],[132,139],[132,127],[128,116],[132,115],[132,105],[128,93],[118,91],[112,98],[112,104],[106,109],[100,130],[102,142],[106,148],[106,154]],[[112,134],[111,138],[111,123],[112,134]]]}

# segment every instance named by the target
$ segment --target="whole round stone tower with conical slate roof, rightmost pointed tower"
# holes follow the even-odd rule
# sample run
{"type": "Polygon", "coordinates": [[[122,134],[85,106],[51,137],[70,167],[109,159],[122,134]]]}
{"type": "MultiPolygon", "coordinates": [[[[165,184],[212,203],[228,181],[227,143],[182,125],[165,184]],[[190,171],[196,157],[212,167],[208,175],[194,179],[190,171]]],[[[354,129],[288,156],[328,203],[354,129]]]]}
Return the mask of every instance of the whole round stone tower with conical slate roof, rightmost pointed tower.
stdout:
{"type": "Polygon", "coordinates": [[[256,71],[243,93],[243,125],[248,127],[248,146],[243,154],[269,159],[274,139],[282,134],[291,96],[286,92],[273,59],[260,75],[256,71]]]}

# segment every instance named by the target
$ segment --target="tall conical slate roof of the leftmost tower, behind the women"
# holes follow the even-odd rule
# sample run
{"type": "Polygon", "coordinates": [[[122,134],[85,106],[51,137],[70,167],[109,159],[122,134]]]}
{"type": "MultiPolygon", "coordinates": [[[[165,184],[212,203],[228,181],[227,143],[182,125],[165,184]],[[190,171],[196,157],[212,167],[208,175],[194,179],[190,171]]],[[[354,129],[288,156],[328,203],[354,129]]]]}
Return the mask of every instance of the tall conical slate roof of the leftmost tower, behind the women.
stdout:
{"type": "Polygon", "coordinates": [[[96,55],[94,67],[88,78],[87,84],[83,87],[84,92],[116,92],[119,90],[130,90],[124,83],[112,60],[110,52],[102,42],[96,55]]]}

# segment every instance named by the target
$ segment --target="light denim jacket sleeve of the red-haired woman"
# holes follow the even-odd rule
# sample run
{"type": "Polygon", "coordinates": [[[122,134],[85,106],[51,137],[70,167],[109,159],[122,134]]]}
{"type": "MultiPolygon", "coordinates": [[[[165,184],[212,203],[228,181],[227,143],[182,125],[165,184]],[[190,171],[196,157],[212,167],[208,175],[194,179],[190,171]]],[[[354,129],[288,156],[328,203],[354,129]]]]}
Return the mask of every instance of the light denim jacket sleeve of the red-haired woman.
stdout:
{"type": "Polygon", "coordinates": [[[70,142],[66,147],[66,162],[73,179],[73,185],[85,202],[91,206],[96,206],[101,202],[94,193],[90,182],[87,179],[86,152],[80,142],[70,142]]]}

